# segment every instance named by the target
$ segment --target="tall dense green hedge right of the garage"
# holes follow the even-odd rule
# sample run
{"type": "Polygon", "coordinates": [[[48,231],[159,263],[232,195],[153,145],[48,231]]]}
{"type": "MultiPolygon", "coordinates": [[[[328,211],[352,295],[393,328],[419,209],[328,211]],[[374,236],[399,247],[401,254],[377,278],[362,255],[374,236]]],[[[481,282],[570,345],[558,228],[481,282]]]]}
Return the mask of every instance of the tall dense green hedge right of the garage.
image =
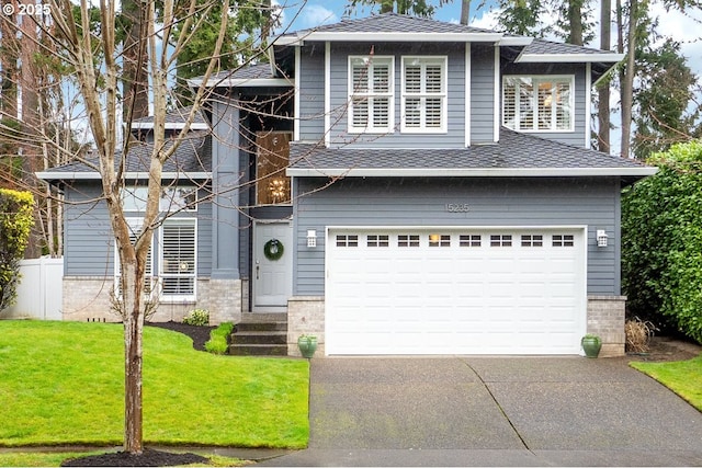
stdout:
{"type": "Polygon", "coordinates": [[[629,312],[702,342],[702,141],[654,153],[656,175],[622,198],[629,312]]]}

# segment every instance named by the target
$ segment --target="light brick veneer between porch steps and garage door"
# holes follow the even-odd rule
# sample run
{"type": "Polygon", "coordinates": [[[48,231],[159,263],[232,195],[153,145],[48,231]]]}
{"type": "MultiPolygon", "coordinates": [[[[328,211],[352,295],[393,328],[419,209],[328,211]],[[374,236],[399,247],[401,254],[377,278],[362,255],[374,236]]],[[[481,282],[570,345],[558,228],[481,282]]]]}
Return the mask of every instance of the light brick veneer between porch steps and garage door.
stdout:
{"type": "Polygon", "coordinates": [[[287,354],[299,356],[301,334],[317,336],[317,356],[325,355],[325,298],[295,296],[287,299],[287,354]]]}

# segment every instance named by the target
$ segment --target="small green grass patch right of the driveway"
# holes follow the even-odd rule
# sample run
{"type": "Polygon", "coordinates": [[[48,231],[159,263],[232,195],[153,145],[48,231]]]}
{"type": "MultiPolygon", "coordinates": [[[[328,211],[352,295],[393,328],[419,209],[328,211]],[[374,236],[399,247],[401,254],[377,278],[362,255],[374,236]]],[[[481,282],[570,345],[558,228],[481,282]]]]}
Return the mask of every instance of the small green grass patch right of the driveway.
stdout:
{"type": "Polygon", "coordinates": [[[702,411],[702,355],[669,363],[630,363],[632,367],[655,378],[682,399],[702,411]]]}

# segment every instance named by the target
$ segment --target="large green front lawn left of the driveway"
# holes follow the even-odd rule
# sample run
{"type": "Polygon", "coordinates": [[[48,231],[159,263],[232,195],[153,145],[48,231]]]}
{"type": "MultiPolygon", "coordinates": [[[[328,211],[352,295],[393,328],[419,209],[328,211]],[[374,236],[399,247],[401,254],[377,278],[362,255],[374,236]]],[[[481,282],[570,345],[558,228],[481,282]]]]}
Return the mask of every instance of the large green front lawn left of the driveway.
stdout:
{"type": "MultiPolygon", "coordinates": [[[[0,321],[0,445],[121,445],[123,328],[0,321]]],[[[303,448],[306,359],[217,356],[144,330],[144,440],[158,445],[303,448]]]]}

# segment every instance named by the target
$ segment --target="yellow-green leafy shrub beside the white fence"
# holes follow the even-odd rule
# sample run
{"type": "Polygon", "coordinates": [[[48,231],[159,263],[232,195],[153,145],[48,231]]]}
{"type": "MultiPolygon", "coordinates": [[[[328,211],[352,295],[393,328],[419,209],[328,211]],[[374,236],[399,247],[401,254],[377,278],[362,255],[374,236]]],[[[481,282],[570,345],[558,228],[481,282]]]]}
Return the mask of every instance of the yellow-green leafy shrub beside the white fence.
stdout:
{"type": "Polygon", "coordinates": [[[34,224],[33,206],[31,193],[0,189],[0,311],[16,299],[20,260],[34,224]]]}

